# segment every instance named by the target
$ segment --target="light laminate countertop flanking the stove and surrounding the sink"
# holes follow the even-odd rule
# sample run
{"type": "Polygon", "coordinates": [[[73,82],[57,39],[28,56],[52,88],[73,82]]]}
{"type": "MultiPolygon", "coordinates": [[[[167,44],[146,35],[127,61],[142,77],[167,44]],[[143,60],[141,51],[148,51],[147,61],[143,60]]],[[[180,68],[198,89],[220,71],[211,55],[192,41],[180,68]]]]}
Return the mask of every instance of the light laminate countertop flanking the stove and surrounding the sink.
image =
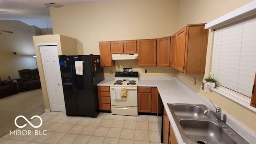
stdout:
{"type": "MultiPolygon", "coordinates": [[[[110,86],[113,84],[114,79],[108,78],[98,84],[98,86],[110,86]]],[[[140,78],[138,82],[138,86],[148,86],[148,87],[157,87],[158,92],[162,98],[162,102],[164,104],[164,108],[167,112],[168,118],[170,120],[170,124],[174,130],[174,134],[177,138],[179,144],[184,144],[178,128],[174,122],[174,118],[167,106],[167,103],[186,103],[186,104],[204,104],[208,108],[215,110],[212,104],[206,100],[201,95],[194,92],[191,88],[189,88],[186,84],[181,82],[175,77],[168,78],[140,78]]],[[[222,114],[226,114],[226,112],[222,112],[222,114]]],[[[244,139],[246,139],[249,143],[253,143],[256,141],[256,135],[254,132],[248,130],[242,124],[235,121],[234,119],[227,116],[226,123],[232,127],[238,134],[240,134],[244,139]]]]}

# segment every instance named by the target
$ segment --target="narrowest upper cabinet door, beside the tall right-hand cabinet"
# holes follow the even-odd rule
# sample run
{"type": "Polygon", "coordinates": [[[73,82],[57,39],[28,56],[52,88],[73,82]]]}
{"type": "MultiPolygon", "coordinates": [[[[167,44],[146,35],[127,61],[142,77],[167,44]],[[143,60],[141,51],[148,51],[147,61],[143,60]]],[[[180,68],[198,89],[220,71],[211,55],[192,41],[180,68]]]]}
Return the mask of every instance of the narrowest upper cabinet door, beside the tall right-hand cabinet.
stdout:
{"type": "Polygon", "coordinates": [[[176,44],[177,44],[177,34],[171,36],[171,54],[170,54],[170,66],[176,69],[176,44]]]}

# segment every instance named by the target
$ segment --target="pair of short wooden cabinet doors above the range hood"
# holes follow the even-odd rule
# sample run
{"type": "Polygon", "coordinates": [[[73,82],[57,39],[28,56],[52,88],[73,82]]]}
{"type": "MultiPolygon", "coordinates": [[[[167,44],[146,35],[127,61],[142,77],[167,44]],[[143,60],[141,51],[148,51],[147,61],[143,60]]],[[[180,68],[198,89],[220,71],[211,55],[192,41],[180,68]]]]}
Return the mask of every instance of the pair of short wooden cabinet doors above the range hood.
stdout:
{"type": "Polygon", "coordinates": [[[137,53],[137,40],[112,41],[112,54],[131,54],[137,53]]]}

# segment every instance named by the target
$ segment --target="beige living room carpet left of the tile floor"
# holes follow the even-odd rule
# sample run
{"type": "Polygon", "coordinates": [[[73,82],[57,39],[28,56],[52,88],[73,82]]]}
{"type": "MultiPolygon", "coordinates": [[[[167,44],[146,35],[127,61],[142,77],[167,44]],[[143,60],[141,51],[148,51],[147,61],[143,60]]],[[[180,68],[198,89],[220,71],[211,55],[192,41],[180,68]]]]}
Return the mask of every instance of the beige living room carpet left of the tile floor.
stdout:
{"type": "MultiPolygon", "coordinates": [[[[19,92],[0,99],[0,137],[17,127],[14,120],[17,116],[25,116],[28,120],[34,115],[44,113],[42,89],[19,92]]],[[[17,124],[26,123],[23,118],[17,119],[17,124]]]]}

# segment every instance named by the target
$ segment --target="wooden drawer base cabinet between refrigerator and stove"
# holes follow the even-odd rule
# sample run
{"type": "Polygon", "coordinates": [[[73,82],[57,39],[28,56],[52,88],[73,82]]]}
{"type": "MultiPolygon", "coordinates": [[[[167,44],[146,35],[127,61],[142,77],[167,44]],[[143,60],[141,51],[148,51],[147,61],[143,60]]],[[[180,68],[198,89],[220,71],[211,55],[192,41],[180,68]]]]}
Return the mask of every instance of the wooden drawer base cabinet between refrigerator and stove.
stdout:
{"type": "Polygon", "coordinates": [[[98,86],[100,110],[111,110],[109,86],[98,86]]]}

